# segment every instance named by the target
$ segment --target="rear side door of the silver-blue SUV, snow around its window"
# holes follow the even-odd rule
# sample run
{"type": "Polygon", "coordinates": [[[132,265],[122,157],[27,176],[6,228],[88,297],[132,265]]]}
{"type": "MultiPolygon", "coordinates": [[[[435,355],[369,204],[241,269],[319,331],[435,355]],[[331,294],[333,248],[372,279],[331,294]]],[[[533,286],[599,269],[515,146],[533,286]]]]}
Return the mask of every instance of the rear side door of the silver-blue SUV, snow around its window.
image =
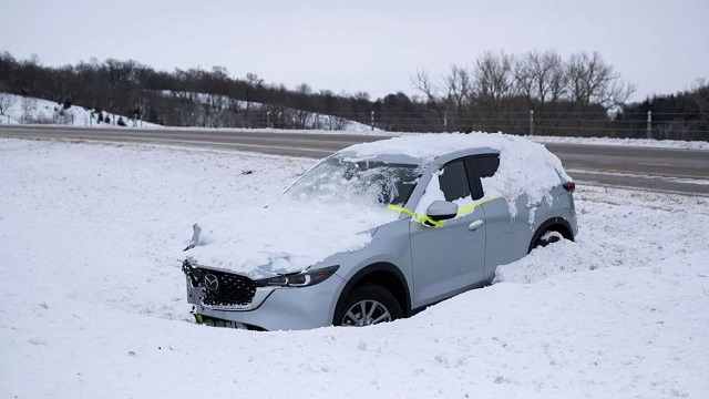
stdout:
{"type": "MultiPolygon", "coordinates": [[[[481,178],[491,177],[500,166],[497,154],[485,154],[469,157],[465,166],[471,177],[473,200],[490,196],[494,193],[484,193],[481,178]],[[476,188],[477,187],[477,188],[476,188]],[[477,197],[475,195],[477,193],[477,197]]],[[[521,195],[515,201],[516,215],[510,214],[510,207],[503,198],[482,205],[485,214],[485,279],[495,276],[495,269],[500,265],[506,265],[526,255],[530,235],[530,209],[527,196],[521,195]]]]}

